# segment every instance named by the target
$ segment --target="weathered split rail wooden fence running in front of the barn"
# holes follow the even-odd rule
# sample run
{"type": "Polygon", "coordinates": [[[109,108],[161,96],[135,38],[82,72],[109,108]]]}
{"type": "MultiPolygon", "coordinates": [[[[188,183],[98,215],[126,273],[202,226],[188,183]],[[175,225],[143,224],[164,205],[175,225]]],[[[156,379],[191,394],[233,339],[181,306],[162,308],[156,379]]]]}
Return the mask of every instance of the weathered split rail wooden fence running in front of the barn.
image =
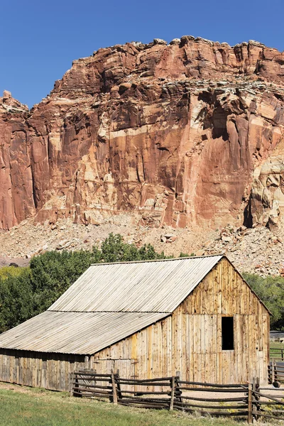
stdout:
{"type": "Polygon", "coordinates": [[[179,376],[139,380],[121,378],[113,371],[77,371],[72,377],[71,393],[84,398],[107,398],[114,404],[132,407],[246,417],[249,424],[260,417],[284,420],[284,392],[260,388],[256,381],[217,385],[182,381],[179,376]]]}

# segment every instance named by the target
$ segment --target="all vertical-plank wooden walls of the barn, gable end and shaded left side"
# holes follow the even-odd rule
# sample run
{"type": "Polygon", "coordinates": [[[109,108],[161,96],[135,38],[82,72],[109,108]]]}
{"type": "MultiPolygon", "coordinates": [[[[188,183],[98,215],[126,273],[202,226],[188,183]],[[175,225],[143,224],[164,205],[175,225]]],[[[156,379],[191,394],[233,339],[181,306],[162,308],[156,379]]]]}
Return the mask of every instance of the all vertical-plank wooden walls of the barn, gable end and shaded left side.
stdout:
{"type": "Polygon", "coordinates": [[[225,258],[164,320],[91,357],[0,349],[0,380],[68,391],[75,370],[121,377],[267,381],[269,314],[225,258]],[[234,351],[222,351],[222,316],[234,316],[234,351]]]}

